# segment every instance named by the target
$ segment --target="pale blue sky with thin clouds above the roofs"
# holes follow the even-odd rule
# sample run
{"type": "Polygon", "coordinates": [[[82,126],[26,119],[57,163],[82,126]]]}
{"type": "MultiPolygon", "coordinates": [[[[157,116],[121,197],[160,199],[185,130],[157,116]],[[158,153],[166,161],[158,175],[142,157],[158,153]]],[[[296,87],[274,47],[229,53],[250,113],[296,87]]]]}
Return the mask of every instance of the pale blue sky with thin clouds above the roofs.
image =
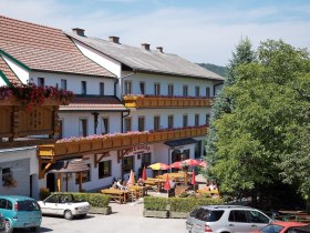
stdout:
{"type": "MultiPolygon", "coordinates": [[[[309,0],[0,0],[0,14],[226,65],[242,37],[310,48],[309,0]]],[[[0,28],[1,33],[1,28],[0,28]]]]}

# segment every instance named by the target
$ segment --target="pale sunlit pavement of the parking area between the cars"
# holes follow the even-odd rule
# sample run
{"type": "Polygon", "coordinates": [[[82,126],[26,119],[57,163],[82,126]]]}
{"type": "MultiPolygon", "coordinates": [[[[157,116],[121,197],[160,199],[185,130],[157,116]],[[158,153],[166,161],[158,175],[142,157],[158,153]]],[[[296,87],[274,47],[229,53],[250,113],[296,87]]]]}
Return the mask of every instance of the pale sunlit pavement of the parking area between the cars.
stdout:
{"type": "MultiPolygon", "coordinates": [[[[43,216],[39,232],[51,233],[187,233],[185,219],[143,216],[143,203],[111,203],[112,214],[89,214],[72,221],[43,216]]],[[[14,231],[16,233],[24,231],[14,231]]]]}

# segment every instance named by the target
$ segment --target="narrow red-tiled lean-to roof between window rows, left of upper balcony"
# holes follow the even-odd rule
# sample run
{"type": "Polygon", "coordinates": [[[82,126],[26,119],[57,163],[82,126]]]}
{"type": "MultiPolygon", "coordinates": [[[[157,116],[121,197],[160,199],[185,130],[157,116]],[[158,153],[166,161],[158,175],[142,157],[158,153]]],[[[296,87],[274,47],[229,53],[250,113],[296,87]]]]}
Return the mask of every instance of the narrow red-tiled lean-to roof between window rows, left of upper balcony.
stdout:
{"type": "Polygon", "coordinates": [[[61,105],[60,111],[126,111],[115,97],[74,97],[69,105],[61,105]]]}

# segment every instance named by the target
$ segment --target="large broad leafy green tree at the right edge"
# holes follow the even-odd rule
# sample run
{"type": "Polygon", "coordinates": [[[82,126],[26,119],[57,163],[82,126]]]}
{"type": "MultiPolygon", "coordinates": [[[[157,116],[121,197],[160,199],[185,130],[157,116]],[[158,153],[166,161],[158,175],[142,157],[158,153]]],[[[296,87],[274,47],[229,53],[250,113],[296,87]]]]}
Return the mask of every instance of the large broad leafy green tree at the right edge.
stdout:
{"type": "Polygon", "coordinates": [[[310,61],[306,50],[268,40],[258,60],[234,68],[224,89],[234,108],[216,119],[210,173],[224,191],[244,195],[279,180],[309,197],[310,61]]]}

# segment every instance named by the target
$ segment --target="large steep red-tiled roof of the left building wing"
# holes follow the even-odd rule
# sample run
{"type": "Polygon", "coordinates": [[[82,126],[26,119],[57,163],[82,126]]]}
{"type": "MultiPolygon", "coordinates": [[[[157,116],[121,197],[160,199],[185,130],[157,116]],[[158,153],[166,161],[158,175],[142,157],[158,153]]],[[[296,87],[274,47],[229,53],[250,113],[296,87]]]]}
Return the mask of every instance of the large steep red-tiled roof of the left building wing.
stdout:
{"type": "Polygon", "coordinates": [[[4,51],[31,70],[115,75],[84,57],[60,30],[0,16],[0,52],[4,51]]]}

